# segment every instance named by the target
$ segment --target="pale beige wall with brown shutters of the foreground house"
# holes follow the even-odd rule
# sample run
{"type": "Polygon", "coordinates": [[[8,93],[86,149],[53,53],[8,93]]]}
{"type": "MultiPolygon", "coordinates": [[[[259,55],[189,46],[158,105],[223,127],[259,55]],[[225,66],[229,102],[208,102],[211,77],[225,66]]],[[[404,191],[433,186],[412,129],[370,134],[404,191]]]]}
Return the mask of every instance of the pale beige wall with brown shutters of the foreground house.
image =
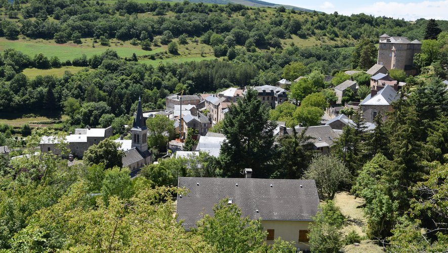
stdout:
{"type": "MultiPolygon", "coordinates": [[[[262,220],[263,230],[273,230],[274,239],[281,237],[284,241],[292,241],[300,250],[308,250],[308,240],[300,241],[299,238],[307,238],[300,232],[307,233],[309,231],[310,221],[264,221],[262,220]]],[[[273,244],[274,240],[266,240],[267,244],[273,244]]]]}

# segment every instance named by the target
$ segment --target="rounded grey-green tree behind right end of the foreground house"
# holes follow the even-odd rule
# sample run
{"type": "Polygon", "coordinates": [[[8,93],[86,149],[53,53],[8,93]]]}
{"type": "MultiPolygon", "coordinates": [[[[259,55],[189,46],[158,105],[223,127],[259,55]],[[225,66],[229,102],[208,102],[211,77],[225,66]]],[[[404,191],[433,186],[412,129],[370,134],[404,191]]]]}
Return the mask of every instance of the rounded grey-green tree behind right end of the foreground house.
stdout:
{"type": "Polygon", "coordinates": [[[338,157],[315,155],[305,171],[304,178],[315,180],[320,199],[333,199],[349,175],[344,163],[338,157]]]}

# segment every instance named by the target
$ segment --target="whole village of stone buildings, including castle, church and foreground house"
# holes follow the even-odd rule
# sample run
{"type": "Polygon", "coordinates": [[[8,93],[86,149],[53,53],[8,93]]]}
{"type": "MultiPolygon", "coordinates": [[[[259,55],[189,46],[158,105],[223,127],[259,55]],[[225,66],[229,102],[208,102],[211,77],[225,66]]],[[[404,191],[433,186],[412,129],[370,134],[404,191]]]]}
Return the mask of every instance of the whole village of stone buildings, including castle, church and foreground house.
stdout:
{"type": "MultiPolygon", "coordinates": [[[[345,129],[366,133],[375,131],[377,125],[385,122],[394,110],[394,103],[403,99],[401,91],[407,85],[404,81],[392,78],[390,70],[402,70],[407,76],[416,74],[413,61],[414,56],[421,52],[421,45],[418,40],[381,35],[377,64],[365,72],[344,71],[348,78],[333,85],[331,96],[335,100],[321,108],[321,114],[318,114],[319,119],[315,123],[291,125],[287,121],[269,121],[272,123],[269,134],[274,137],[274,145],[287,136],[302,135],[308,138],[300,142],[304,149],[306,146],[313,154],[332,155],[335,152],[333,147],[344,135],[345,129]],[[369,75],[368,85],[361,85],[352,78],[356,74],[369,75]],[[358,96],[361,90],[364,90],[363,97],[358,96]],[[360,99],[356,101],[353,99],[355,97],[360,99]]],[[[278,110],[284,104],[296,110],[303,105],[302,101],[291,96],[291,88],[294,83],[307,78],[300,76],[295,80],[281,79],[264,86],[231,87],[211,94],[184,94],[181,91],[167,96],[166,107],[162,110],[145,111],[139,98],[132,116],[132,125],[122,126],[129,130],[126,134],[116,138],[112,126],[77,128],[74,133],[66,136],[40,137],[40,152],[60,155],[68,160],[69,165],[73,165],[82,163],[86,152],[91,152],[88,151],[91,147],[113,138],[113,143],[116,144],[114,147],[122,152],[121,167],[128,167],[133,179],[142,177],[142,168],[145,170],[144,167],[157,165],[170,157],[189,159],[193,163],[202,154],[218,159],[223,145],[229,142],[226,137],[228,133],[222,132],[222,125],[226,118],[233,115],[230,114],[232,110],[236,110],[241,101],[251,96],[249,93],[256,94],[261,107],[267,108],[267,112],[278,110]],[[171,124],[169,129],[174,130],[174,133],[168,130],[159,133],[166,138],[166,143],[162,143],[165,148],[161,152],[148,144],[148,138],[154,133],[148,129],[147,124],[157,118],[168,120],[171,124]],[[193,145],[187,145],[188,142],[193,145]]],[[[324,76],[325,85],[332,86],[334,78],[324,76]]],[[[443,83],[448,92],[448,80],[443,83]]],[[[8,155],[9,152],[8,146],[0,147],[0,153],[8,155]]],[[[25,157],[40,155],[40,152],[25,157]]],[[[21,157],[24,156],[12,159],[21,157]]],[[[190,164],[188,170],[194,170],[198,166],[205,165],[199,162],[196,165],[190,164]]],[[[174,207],[177,221],[182,221],[185,231],[194,229],[203,215],[213,216],[214,205],[221,199],[226,199],[228,204],[238,205],[243,217],[262,220],[268,244],[281,238],[294,242],[294,247],[298,250],[309,250],[310,222],[319,213],[319,203],[322,200],[320,182],[316,183],[314,179],[264,178],[255,167],[236,169],[239,170],[237,174],[227,175],[239,177],[215,177],[212,173],[200,177],[179,175],[174,179],[179,189],[189,190],[175,197],[174,207]]]]}

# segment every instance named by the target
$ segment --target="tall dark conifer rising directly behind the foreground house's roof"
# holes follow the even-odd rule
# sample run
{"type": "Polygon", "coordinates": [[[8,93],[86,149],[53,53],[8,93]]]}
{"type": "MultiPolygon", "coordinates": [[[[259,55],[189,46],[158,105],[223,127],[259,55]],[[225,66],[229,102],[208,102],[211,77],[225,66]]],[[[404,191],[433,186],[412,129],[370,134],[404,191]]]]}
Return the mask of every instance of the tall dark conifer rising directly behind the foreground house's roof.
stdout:
{"type": "Polygon", "coordinates": [[[258,98],[256,90],[248,89],[236,105],[231,105],[224,118],[220,159],[227,177],[240,177],[244,168],[254,175],[269,175],[268,162],[274,155],[275,125],[269,121],[269,108],[258,98]]]}

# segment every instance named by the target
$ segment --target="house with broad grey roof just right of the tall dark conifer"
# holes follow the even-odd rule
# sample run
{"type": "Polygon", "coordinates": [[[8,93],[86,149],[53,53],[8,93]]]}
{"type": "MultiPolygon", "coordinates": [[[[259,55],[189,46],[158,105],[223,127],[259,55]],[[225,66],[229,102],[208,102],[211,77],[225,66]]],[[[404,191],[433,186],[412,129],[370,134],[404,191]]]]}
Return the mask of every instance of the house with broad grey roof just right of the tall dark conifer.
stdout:
{"type": "MultiPolygon", "coordinates": [[[[306,131],[305,135],[310,136],[313,139],[310,142],[313,143],[314,149],[320,151],[322,154],[329,154],[330,148],[342,134],[340,130],[333,130],[330,125],[316,125],[309,126],[308,128],[302,128],[295,126],[297,134],[301,134],[302,131],[306,131]]],[[[286,126],[280,126],[279,135],[293,135],[293,129],[286,126]]]]}

